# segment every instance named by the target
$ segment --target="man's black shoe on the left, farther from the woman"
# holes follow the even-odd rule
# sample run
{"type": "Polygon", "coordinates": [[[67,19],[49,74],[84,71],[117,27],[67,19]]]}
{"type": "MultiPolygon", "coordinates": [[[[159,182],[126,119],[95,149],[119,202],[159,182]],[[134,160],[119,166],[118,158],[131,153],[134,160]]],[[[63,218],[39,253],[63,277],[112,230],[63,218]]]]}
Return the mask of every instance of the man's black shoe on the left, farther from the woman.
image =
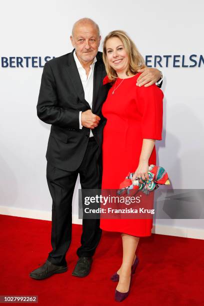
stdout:
{"type": "Polygon", "coordinates": [[[63,273],[67,271],[66,265],[55,265],[48,260],[39,268],[29,273],[29,276],[35,279],[47,278],[55,273],[63,273]]]}

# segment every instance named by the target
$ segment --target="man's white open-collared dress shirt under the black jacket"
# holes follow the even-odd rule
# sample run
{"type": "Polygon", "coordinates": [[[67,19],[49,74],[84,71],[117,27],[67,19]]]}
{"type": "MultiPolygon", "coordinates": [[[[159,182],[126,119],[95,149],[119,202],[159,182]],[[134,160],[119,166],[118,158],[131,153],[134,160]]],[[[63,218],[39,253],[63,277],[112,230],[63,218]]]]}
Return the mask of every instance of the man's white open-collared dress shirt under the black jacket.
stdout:
{"type": "MultiPolygon", "coordinates": [[[[80,61],[78,60],[75,51],[73,52],[73,57],[75,59],[76,67],[78,69],[78,73],[80,75],[81,83],[82,83],[82,86],[83,86],[84,98],[88,102],[88,104],[90,105],[90,108],[91,108],[92,107],[92,99],[93,99],[93,70],[94,70],[94,65],[95,65],[95,62],[96,62],[97,59],[96,59],[96,57],[93,58],[93,62],[90,65],[90,71],[89,71],[89,74],[88,74],[88,77],[87,77],[85,69],[83,68],[80,61]]],[[[80,129],[82,128],[81,112],[82,111],[79,111],[79,128],[80,129]]],[[[92,137],[92,136],[93,136],[93,133],[90,130],[89,137],[92,137]]]]}

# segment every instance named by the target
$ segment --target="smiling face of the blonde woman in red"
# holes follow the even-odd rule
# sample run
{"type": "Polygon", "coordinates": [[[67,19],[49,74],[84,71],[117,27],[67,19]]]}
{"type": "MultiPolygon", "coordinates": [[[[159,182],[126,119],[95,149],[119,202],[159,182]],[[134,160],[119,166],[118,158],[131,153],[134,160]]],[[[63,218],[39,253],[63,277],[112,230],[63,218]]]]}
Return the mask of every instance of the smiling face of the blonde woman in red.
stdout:
{"type": "Polygon", "coordinates": [[[111,37],[106,41],[106,54],[109,65],[116,71],[126,71],[129,65],[127,52],[118,37],[111,37]]]}

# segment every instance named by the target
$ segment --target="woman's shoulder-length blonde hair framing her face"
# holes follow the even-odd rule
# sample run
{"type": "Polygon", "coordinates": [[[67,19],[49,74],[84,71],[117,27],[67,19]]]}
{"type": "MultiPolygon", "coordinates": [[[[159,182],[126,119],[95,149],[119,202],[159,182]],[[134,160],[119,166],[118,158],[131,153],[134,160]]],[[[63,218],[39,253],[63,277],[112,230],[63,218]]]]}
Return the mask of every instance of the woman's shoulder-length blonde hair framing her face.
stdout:
{"type": "Polygon", "coordinates": [[[109,34],[107,34],[107,36],[103,41],[103,54],[102,54],[107,76],[111,81],[115,81],[115,79],[117,78],[116,71],[109,65],[107,61],[106,42],[109,38],[112,37],[119,38],[122,41],[124,48],[127,52],[129,59],[129,67],[127,68],[126,74],[128,71],[130,71],[133,74],[136,74],[137,70],[146,67],[143,57],[141,56],[134,42],[130,39],[127,33],[125,33],[122,30],[111,31],[109,32],[109,34]]]}

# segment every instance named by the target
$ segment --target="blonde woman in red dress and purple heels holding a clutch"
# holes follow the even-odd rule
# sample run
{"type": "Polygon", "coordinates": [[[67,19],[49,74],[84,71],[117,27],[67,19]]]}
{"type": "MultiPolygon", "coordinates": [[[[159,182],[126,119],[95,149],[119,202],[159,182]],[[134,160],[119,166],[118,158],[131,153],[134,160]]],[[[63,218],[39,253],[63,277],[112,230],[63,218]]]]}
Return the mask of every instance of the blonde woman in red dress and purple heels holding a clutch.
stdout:
{"type": "MultiPolygon", "coordinates": [[[[163,92],[155,85],[137,86],[144,60],[128,35],[115,30],[104,39],[103,61],[111,81],[102,114],[107,119],[103,130],[102,189],[117,189],[129,172],[148,179],[148,165],[156,164],[155,140],[161,140],[163,92]]],[[[104,80],[104,81],[105,81],[104,80]]],[[[139,237],[151,235],[152,219],[100,219],[103,230],[118,231],[123,257],[118,271],[115,300],[129,293],[131,276],[138,263],[135,255],[139,237]]]]}

